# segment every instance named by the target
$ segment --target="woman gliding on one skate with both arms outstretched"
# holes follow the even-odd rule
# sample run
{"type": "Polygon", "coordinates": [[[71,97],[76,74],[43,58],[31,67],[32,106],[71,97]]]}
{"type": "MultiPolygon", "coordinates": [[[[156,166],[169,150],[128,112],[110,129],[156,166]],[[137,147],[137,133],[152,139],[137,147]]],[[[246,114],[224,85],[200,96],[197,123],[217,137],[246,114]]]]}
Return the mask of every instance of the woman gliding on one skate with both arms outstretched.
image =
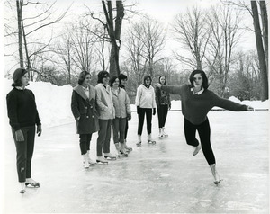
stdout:
{"type": "Polygon", "coordinates": [[[215,156],[211,149],[210,125],[207,113],[214,106],[229,111],[254,111],[254,109],[251,106],[241,105],[223,99],[208,90],[208,79],[202,70],[194,70],[190,75],[189,80],[191,83],[190,85],[156,85],[168,93],[181,95],[186,142],[188,145],[194,147],[193,156],[197,155],[202,148],[203,155],[211,167],[214,183],[218,184],[221,180],[216,171],[215,156]],[[199,132],[201,145],[195,138],[196,130],[199,132]]]}

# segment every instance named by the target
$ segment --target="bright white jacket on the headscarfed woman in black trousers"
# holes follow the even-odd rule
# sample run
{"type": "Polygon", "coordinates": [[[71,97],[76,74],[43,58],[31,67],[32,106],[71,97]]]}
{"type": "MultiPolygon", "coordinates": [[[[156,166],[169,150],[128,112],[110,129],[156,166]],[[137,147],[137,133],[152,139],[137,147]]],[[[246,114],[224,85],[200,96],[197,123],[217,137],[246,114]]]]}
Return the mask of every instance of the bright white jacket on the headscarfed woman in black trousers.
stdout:
{"type": "Polygon", "coordinates": [[[150,85],[149,88],[147,88],[143,84],[139,85],[139,87],[137,88],[135,104],[140,108],[157,108],[155,90],[152,85],[150,85]]]}

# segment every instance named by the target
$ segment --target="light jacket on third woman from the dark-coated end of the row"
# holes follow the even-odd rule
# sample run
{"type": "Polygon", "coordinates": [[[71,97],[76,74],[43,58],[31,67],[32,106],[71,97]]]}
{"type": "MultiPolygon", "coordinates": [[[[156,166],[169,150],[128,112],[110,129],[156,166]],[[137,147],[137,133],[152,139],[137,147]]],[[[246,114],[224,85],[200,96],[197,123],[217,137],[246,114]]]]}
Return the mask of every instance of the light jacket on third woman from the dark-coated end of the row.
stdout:
{"type": "Polygon", "coordinates": [[[131,114],[130,98],[124,89],[120,87],[117,91],[112,89],[112,102],[115,109],[115,117],[126,118],[127,114],[131,114]]]}

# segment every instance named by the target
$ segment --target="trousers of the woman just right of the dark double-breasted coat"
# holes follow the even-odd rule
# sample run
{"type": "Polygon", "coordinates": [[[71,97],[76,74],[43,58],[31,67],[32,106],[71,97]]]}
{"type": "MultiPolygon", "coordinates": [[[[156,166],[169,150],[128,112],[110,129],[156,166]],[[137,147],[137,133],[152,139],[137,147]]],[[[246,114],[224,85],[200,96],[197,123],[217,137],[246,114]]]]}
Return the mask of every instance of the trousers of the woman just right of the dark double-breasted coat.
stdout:
{"type": "Polygon", "coordinates": [[[99,131],[96,140],[96,156],[110,152],[110,140],[112,132],[112,120],[98,120],[99,131]]]}

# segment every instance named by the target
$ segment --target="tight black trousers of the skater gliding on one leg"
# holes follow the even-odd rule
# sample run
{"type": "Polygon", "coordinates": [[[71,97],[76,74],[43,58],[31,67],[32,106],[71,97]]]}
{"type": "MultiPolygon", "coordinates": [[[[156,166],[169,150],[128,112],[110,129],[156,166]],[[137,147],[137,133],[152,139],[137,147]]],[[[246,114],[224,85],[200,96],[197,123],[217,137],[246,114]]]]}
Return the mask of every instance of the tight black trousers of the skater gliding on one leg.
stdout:
{"type": "Polygon", "coordinates": [[[202,152],[206,158],[206,161],[209,165],[215,164],[215,156],[211,149],[210,142],[210,125],[209,120],[205,120],[202,124],[194,125],[189,120],[184,119],[184,135],[186,139],[186,143],[193,147],[197,147],[199,145],[199,141],[195,138],[196,130],[199,132],[202,152]]]}

